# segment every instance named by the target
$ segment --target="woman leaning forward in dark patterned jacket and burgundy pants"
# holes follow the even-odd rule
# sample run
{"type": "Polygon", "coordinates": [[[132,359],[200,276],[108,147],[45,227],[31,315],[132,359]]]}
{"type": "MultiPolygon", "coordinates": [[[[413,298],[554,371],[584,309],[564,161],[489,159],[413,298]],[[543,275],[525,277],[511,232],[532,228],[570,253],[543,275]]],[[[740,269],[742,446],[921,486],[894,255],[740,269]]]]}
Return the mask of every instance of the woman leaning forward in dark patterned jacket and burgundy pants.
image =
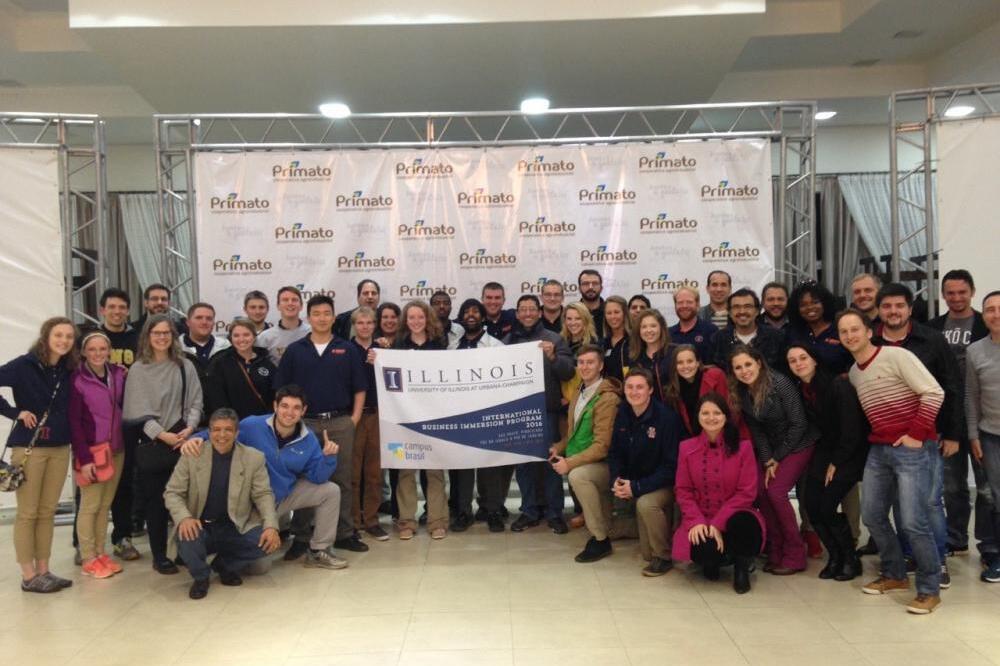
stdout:
{"type": "Polygon", "coordinates": [[[788,491],[809,465],[818,433],[806,419],[798,388],[768,368],[759,351],[737,345],[729,367],[729,394],[739,401],[761,467],[757,502],[768,531],[764,571],[788,576],[806,568],[806,547],[788,491]]]}

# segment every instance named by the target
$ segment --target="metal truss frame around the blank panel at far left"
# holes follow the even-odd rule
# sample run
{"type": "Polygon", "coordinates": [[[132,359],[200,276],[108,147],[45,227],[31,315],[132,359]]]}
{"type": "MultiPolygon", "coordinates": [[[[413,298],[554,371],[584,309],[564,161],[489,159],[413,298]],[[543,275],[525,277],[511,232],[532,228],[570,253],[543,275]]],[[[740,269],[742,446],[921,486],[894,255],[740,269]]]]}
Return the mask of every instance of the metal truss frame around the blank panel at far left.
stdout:
{"type": "Polygon", "coordinates": [[[59,217],[63,237],[66,316],[99,323],[97,304],[107,287],[108,192],[104,121],[96,115],[0,113],[0,148],[55,150],[59,161],[59,217]],[[76,204],[92,212],[83,218],[76,204]],[[84,247],[84,234],[91,247],[84,247]],[[75,264],[85,278],[75,284],[75,264]],[[86,277],[87,274],[91,276],[86,277]]]}

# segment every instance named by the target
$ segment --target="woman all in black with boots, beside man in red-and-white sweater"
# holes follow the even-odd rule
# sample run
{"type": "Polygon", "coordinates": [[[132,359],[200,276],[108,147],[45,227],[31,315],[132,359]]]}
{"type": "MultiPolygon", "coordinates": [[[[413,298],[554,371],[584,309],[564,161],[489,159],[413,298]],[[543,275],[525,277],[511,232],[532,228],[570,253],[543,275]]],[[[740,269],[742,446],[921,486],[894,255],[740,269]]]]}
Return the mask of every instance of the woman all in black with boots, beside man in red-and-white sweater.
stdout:
{"type": "Polygon", "coordinates": [[[806,472],[805,509],[830,555],[820,578],[852,580],[861,574],[854,537],[843,513],[844,496],[861,480],[868,457],[867,421],[850,380],[833,376],[812,348],[793,344],[788,367],[805,402],[806,417],[819,431],[806,472]]]}

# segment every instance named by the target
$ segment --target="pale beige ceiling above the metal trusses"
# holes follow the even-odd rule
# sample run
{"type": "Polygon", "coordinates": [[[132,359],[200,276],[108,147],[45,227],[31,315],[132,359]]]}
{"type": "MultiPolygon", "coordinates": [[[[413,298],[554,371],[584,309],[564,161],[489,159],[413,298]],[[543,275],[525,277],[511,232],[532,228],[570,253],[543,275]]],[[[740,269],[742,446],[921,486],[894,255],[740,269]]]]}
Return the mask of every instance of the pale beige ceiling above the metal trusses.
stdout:
{"type": "Polygon", "coordinates": [[[69,27],[103,1],[0,0],[0,110],[100,113],[115,143],[151,141],[156,112],[331,99],[358,112],[510,109],[532,94],[560,107],[817,99],[834,124],[876,124],[892,90],[1000,80],[997,0],[768,0],[766,13],[706,16],[650,16],[643,0],[587,3],[641,18],[270,27],[226,25],[252,23],[263,0],[214,0],[231,11],[191,12],[200,26],[158,0],[175,27],[69,27]]]}

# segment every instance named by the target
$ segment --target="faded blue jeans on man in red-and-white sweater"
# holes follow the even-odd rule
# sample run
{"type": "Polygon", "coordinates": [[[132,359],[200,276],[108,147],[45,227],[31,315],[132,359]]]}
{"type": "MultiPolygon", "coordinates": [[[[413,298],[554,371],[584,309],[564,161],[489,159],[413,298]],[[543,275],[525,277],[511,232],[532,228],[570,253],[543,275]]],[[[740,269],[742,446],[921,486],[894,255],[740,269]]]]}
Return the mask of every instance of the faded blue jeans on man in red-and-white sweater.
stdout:
{"type": "Polygon", "coordinates": [[[900,510],[896,518],[917,561],[917,592],[932,595],[939,593],[941,576],[941,558],[928,515],[935,457],[940,454],[934,441],[924,442],[919,449],[873,444],[861,492],[861,516],[878,546],[882,575],[906,578],[903,550],[889,522],[889,509],[898,497],[900,510]]]}

